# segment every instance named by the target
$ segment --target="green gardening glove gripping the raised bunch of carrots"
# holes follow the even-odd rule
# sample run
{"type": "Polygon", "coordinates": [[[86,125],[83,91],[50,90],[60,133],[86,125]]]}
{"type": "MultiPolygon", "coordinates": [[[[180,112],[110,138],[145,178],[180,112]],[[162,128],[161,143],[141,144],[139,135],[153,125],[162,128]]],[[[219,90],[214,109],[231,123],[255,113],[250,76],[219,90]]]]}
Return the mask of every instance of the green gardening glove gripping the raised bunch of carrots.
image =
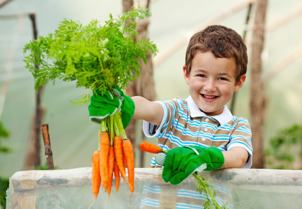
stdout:
{"type": "Polygon", "coordinates": [[[101,123],[103,118],[120,111],[123,126],[126,128],[134,113],[134,102],[130,97],[124,95],[118,87],[113,87],[112,90],[114,95],[108,90],[105,91],[104,95],[101,94],[101,91],[93,94],[88,106],[89,118],[95,123],[101,123]]]}

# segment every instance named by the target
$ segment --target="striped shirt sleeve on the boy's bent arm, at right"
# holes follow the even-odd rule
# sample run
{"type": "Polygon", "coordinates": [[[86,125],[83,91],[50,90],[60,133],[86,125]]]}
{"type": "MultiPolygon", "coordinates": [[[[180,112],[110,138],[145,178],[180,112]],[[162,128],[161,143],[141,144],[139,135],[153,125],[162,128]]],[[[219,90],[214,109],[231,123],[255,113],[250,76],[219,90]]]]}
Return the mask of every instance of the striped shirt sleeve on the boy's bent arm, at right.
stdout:
{"type": "Polygon", "coordinates": [[[231,134],[230,143],[226,146],[226,150],[230,150],[233,147],[242,147],[248,151],[249,158],[243,168],[250,168],[252,166],[253,147],[251,138],[252,131],[248,120],[239,118],[239,122],[231,134]]]}

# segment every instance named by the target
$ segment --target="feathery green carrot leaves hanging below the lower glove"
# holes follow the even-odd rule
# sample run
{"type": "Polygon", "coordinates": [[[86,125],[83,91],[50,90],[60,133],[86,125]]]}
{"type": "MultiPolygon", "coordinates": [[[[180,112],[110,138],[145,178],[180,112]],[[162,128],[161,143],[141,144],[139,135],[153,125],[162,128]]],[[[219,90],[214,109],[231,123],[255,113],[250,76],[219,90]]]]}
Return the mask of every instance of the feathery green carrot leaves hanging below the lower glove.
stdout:
{"type": "Polygon", "coordinates": [[[197,186],[197,191],[199,193],[204,193],[204,209],[227,209],[228,207],[226,204],[219,204],[216,200],[216,191],[212,185],[210,185],[210,181],[207,180],[205,177],[202,175],[198,175],[196,173],[193,173],[193,176],[195,177],[195,184],[197,186]]]}

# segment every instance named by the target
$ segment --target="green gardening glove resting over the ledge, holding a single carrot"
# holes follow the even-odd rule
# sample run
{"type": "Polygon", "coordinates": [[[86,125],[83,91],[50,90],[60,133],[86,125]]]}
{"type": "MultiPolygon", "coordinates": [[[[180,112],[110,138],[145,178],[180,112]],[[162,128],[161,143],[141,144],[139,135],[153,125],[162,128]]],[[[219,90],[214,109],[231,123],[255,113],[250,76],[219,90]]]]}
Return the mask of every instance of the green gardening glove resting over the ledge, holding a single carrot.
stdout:
{"type": "Polygon", "coordinates": [[[217,147],[176,147],[167,152],[162,176],[164,181],[176,185],[198,170],[215,170],[223,163],[223,154],[217,147]]]}

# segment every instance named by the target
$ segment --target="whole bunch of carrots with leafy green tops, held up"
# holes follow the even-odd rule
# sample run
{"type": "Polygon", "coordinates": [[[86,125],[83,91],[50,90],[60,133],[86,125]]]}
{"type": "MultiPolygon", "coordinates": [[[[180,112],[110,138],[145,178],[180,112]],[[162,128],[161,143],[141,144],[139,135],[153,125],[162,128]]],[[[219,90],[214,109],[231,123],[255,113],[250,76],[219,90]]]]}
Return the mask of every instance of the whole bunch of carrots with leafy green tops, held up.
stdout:
{"type": "MultiPolygon", "coordinates": [[[[88,92],[79,101],[72,102],[89,104],[91,91],[105,93],[114,86],[125,89],[128,82],[139,77],[141,64],[137,58],[146,63],[148,52],[154,55],[158,52],[156,45],[149,39],[136,38],[134,20],[150,16],[151,13],[138,7],[117,18],[110,14],[110,19],[103,26],[97,20],[83,26],[80,22],[64,19],[53,34],[40,36],[24,47],[24,53],[29,52],[24,62],[35,78],[36,91],[49,80],[53,85],[56,79],[75,81],[77,87],[85,87],[88,92]]],[[[101,182],[110,197],[113,173],[116,190],[120,173],[133,194],[133,149],[125,134],[119,111],[102,119],[99,146],[93,154],[92,162],[92,186],[96,198],[101,182]]]]}

